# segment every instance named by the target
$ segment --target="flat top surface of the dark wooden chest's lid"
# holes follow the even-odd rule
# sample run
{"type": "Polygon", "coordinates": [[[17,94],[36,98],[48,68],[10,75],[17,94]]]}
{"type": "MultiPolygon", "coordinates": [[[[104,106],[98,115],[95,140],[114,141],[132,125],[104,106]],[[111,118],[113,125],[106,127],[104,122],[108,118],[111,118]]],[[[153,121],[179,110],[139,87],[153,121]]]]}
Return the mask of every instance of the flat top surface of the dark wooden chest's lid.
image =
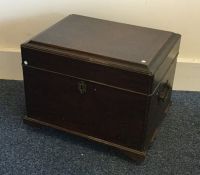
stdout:
{"type": "Polygon", "coordinates": [[[32,38],[29,44],[85,53],[96,62],[103,57],[105,63],[110,59],[113,64],[122,64],[128,70],[152,75],[157,69],[155,65],[166,58],[156,57],[163,50],[168,53],[165,46],[173,46],[179,38],[172,32],[69,15],[32,38]]]}

